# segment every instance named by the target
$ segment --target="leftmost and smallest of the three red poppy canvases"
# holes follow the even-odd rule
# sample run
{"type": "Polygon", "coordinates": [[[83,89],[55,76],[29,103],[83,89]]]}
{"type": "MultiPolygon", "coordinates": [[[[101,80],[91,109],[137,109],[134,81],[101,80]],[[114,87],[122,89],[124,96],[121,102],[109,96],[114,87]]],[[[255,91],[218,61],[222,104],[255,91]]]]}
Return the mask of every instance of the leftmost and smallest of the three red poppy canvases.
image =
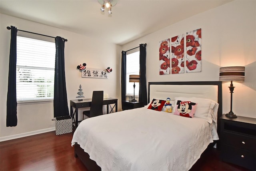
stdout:
{"type": "Polygon", "coordinates": [[[159,42],[159,74],[170,74],[170,39],[159,42]]]}

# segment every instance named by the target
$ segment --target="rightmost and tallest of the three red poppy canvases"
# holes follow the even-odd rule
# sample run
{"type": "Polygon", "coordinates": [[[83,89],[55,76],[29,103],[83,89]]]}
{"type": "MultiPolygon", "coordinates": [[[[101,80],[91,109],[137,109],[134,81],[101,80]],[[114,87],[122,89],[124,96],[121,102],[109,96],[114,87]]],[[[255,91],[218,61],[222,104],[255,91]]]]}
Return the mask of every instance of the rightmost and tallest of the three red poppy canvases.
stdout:
{"type": "Polygon", "coordinates": [[[186,72],[201,72],[201,28],[186,34],[186,72]]]}

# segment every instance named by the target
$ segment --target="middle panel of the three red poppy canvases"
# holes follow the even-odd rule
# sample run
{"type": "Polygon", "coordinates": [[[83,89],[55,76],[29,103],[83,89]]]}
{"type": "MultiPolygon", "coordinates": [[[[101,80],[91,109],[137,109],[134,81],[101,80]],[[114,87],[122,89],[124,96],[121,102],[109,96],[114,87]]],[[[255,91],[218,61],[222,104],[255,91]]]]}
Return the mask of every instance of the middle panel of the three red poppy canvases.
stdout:
{"type": "Polygon", "coordinates": [[[172,74],[184,73],[184,34],[172,39],[172,74]]]}

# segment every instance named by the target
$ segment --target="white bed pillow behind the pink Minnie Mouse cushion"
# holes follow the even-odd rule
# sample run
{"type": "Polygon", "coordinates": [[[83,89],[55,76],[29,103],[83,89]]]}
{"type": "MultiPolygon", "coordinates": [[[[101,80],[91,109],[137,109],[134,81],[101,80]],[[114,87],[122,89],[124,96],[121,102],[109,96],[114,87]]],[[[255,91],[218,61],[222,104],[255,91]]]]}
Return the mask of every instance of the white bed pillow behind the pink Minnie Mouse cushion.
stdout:
{"type": "Polygon", "coordinates": [[[174,99],[174,109],[176,109],[177,100],[193,101],[194,103],[197,103],[194,117],[206,119],[209,123],[212,123],[212,119],[216,122],[219,107],[219,104],[216,101],[197,97],[175,97],[174,99]]]}

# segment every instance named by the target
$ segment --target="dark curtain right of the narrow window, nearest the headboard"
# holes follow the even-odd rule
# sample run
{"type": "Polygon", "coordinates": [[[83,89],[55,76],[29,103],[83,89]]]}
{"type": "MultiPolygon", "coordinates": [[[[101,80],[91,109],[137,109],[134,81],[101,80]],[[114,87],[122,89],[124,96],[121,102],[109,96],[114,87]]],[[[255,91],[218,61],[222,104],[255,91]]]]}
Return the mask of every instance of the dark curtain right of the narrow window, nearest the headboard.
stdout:
{"type": "Polygon", "coordinates": [[[146,45],[140,44],[140,90],[139,101],[142,105],[147,105],[147,89],[146,89],[146,45]]]}

